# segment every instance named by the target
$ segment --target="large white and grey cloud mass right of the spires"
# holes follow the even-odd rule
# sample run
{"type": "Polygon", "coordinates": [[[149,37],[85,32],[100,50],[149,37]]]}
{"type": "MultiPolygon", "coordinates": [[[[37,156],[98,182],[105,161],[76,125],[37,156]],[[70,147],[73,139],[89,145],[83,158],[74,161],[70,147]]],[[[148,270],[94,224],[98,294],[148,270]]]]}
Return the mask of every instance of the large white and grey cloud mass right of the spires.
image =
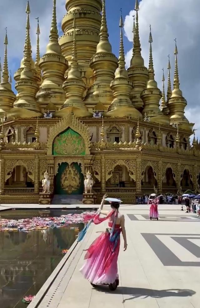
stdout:
{"type": "MultiPolygon", "coordinates": [[[[174,39],[178,45],[178,67],[180,88],[187,99],[186,117],[195,122],[200,137],[200,1],[187,0],[141,0],[139,3],[139,33],[142,56],[148,67],[149,57],[149,24],[153,35],[153,60],[155,78],[162,89],[162,68],[165,68],[167,79],[168,54],[171,58],[171,76],[174,69],[174,39]]],[[[124,22],[125,34],[132,41],[133,17],[135,11],[126,16],[124,22]]],[[[126,54],[127,66],[130,64],[132,51],[126,54]]],[[[173,84],[173,79],[172,79],[173,84]]],[[[167,86],[167,83],[166,83],[167,86]]]]}

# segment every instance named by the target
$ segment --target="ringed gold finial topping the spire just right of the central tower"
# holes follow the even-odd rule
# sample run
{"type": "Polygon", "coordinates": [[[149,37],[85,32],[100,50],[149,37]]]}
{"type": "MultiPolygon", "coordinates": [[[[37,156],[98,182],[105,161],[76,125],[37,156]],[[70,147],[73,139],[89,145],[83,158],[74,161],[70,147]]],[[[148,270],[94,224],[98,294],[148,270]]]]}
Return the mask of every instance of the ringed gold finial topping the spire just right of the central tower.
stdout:
{"type": "Polygon", "coordinates": [[[101,28],[99,33],[99,43],[97,45],[97,53],[101,52],[112,52],[111,44],[108,40],[108,27],[107,27],[107,21],[106,21],[106,4],[105,0],[102,1],[102,18],[101,18],[101,28]]]}

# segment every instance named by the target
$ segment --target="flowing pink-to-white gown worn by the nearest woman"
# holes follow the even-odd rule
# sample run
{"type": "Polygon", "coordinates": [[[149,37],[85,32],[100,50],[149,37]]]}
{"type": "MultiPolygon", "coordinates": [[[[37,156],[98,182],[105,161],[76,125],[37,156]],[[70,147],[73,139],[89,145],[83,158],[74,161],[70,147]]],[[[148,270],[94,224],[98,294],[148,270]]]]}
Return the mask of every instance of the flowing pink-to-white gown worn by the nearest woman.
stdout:
{"type": "MultiPolygon", "coordinates": [[[[108,225],[112,228],[113,223],[109,222],[108,225]]],[[[121,233],[120,225],[114,226],[114,234],[116,232],[121,233]]],[[[110,233],[106,230],[94,240],[87,249],[84,265],[80,269],[84,278],[94,285],[111,284],[118,278],[117,261],[120,236],[118,236],[117,242],[112,242],[109,237],[110,233]]]]}

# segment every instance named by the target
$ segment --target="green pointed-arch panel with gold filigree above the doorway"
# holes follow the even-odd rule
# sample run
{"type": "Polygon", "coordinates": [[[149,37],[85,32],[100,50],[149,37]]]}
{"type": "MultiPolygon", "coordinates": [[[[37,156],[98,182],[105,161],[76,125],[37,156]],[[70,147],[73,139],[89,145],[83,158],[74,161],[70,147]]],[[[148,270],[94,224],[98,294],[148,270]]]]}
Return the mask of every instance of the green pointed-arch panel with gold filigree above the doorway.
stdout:
{"type": "Polygon", "coordinates": [[[83,137],[68,127],[53,141],[53,155],[85,155],[83,137]]]}

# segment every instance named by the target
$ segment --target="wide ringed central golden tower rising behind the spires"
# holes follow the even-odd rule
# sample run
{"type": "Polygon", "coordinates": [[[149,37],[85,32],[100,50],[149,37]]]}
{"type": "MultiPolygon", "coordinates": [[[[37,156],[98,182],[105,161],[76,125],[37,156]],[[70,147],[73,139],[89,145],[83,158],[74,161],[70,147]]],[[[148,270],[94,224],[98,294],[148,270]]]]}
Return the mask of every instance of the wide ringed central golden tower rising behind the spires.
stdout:
{"type": "Polygon", "coordinates": [[[93,70],[89,61],[96,53],[101,27],[101,0],[66,0],[67,14],[63,17],[63,36],[60,38],[62,54],[71,63],[73,47],[73,18],[76,16],[76,46],[79,70],[87,88],[93,83],[93,70]]]}

